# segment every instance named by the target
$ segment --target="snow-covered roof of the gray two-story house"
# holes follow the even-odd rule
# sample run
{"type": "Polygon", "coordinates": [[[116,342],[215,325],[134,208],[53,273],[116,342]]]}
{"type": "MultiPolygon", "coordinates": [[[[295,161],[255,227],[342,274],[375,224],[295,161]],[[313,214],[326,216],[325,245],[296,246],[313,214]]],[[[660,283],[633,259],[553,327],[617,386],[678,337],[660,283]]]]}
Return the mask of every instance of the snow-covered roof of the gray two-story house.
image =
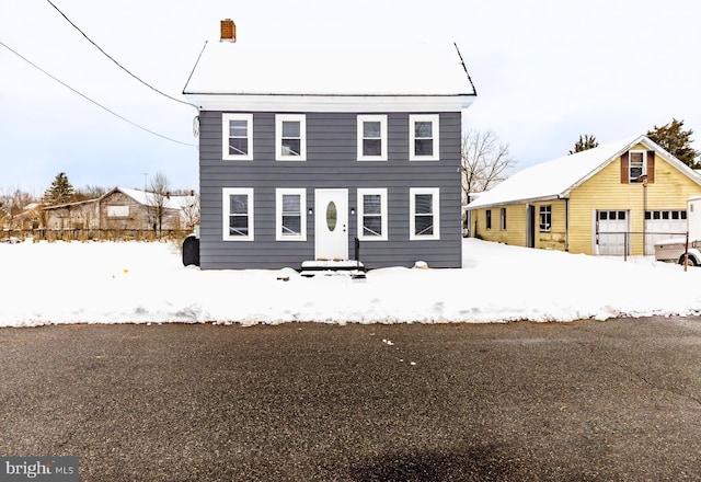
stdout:
{"type": "Polygon", "coordinates": [[[467,107],[475,90],[455,44],[290,49],[222,42],[205,46],[183,93],[200,103],[212,95],[447,96],[467,107]]]}

